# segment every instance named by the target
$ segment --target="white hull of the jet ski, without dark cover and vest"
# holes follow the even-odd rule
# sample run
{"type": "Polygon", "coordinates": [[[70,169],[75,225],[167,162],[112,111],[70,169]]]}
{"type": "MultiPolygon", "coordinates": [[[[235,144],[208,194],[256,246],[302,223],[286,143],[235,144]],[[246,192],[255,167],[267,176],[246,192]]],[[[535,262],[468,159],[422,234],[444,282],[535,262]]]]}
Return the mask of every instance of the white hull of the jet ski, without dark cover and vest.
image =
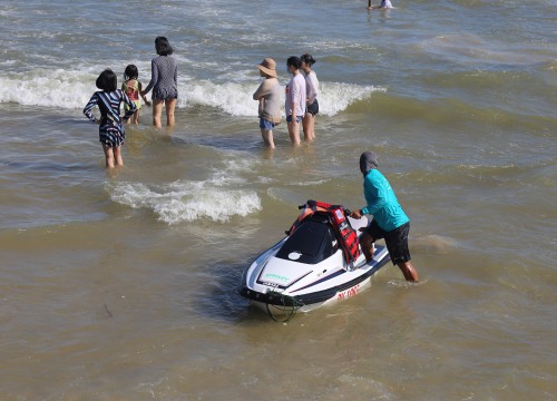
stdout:
{"type": "MultiPolygon", "coordinates": [[[[350,223],[358,229],[368,221],[350,219],[350,223]]],[[[319,263],[301,263],[296,252],[286,252],[287,257],[281,257],[287,241],[289,237],[283,238],[252,263],[242,276],[238,291],[272,316],[310,312],[350,299],[368,287],[371,277],[390,261],[387,247],[375,244],[370,263],[365,263],[362,253],[355,263],[346,264],[340,248],[332,250],[330,256],[319,263]]]]}

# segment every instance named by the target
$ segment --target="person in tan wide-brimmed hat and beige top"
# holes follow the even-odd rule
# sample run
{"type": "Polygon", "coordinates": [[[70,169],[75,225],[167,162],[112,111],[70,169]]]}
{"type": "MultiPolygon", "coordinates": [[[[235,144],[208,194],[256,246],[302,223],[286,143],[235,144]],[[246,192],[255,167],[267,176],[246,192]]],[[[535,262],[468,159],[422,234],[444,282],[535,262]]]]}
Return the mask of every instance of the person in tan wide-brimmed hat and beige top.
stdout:
{"type": "Polygon", "coordinates": [[[255,67],[260,70],[260,75],[265,78],[253,94],[253,99],[260,102],[261,136],[265,145],[274,149],[273,128],[281,123],[281,85],[276,79],[276,62],[267,57],[255,67]]]}

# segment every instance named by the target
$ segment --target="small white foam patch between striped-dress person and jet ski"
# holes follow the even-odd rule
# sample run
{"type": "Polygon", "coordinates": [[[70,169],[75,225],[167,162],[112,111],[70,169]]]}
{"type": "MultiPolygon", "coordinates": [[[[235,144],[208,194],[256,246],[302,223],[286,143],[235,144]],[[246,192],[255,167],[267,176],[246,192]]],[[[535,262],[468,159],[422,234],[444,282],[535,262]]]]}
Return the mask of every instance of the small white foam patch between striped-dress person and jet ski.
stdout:
{"type": "Polygon", "coordinates": [[[152,187],[141,183],[107,184],[107,190],[114,202],[152,209],[159,221],[170,225],[204,217],[226,222],[262,208],[254,190],[225,189],[204,182],[175,182],[152,187]]]}

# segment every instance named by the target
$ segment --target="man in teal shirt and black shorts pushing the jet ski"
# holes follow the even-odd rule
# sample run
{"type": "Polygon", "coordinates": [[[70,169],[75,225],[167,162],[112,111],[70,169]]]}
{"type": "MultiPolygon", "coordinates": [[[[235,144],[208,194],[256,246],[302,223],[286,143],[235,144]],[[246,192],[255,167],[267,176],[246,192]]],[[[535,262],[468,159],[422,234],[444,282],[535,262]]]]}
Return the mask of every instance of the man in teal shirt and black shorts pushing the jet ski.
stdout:
{"type": "Polygon", "coordinates": [[[418,273],[410,263],[408,250],[408,232],[410,219],[405,215],[387,178],[378,170],[378,156],[374,151],[364,151],[360,156],[360,170],[363,174],[363,195],[367,206],[350,214],[361,218],[364,214],[373,215],[373,221],[360,237],[365,258],[373,258],[374,243],[384,238],[392,264],[402,271],[407,281],[418,281],[418,273]]]}

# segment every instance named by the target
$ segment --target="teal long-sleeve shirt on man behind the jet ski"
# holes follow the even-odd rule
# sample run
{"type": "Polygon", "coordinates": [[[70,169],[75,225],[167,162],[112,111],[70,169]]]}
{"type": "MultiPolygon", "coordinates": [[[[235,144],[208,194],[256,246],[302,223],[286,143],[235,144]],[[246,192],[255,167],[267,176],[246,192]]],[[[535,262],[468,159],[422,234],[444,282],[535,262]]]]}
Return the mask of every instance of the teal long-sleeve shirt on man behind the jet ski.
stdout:
{"type": "Polygon", "coordinates": [[[410,222],[402,211],[391,184],[378,169],[371,169],[365,174],[363,196],[368,205],[362,207],[362,213],[373,215],[379,227],[385,232],[410,222]]]}

